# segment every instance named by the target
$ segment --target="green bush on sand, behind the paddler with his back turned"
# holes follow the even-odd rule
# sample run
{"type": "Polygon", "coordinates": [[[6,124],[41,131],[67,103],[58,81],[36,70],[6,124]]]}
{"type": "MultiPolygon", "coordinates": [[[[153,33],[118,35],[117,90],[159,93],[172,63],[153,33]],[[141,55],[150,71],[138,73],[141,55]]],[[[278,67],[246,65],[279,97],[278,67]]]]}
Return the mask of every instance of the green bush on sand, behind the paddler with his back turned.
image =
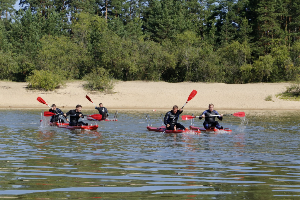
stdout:
{"type": "Polygon", "coordinates": [[[83,86],[88,90],[112,91],[115,87],[115,80],[103,68],[93,70],[91,73],[85,75],[84,79],[87,82],[83,86]]]}

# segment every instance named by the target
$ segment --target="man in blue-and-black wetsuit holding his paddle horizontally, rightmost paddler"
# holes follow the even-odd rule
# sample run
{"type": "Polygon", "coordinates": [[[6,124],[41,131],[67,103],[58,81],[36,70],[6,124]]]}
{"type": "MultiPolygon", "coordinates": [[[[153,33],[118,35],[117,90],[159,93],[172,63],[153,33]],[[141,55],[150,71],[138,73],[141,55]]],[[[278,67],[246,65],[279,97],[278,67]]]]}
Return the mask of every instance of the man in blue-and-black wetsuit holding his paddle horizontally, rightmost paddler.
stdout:
{"type": "Polygon", "coordinates": [[[211,127],[216,127],[217,129],[223,129],[223,127],[220,126],[218,121],[215,121],[215,118],[217,117],[220,121],[223,120],[223,114],[219,114],[217,111],[214,110],[214,104],[208,105],[208,110],[205,110],[202,115],[199,117],[199,119],[202,119],[204,117],[205,121],[203,122],[203,126],[205,129],[210,129],[211,127]],[[220,115],[220,116],[214,116],[210,117],[211,115],[220,115]]]}

